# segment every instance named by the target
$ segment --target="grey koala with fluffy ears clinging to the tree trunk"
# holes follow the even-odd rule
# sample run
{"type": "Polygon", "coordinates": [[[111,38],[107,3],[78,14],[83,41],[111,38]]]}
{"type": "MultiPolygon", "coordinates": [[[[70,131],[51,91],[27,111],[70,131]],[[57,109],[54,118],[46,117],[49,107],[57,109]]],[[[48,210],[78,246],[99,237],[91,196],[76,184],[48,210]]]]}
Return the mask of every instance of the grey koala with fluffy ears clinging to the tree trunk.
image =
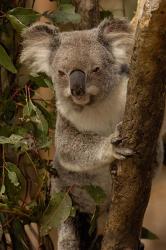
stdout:
{"type": "MultiPolygon", "coordinates": [[[[91,30],[59,32],[37,23],[23,32],[21,62],[31,72],[44,72],[55,89],[56,191],[71,188],[75,206],[91,214],[95,202],[82,187],[100,186],[111,197],[110,164],[132,155],[115,145],[122,121],[133,46],[126,20],[104,20],[91,30]]],[[[77,250],[80,243],[72,220],[59,228],[58,250],[77,250]]],[[[84,249],[88,249],[85,248],[84,249]]]]}

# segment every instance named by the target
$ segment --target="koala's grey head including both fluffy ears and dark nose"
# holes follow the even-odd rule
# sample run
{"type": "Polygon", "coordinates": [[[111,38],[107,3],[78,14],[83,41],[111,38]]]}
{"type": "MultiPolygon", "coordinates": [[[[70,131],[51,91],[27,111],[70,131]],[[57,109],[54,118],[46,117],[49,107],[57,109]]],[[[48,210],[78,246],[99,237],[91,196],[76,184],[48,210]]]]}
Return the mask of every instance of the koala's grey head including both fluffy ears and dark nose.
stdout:
{"type": "Polygon", "coordinates": [[[128,71],[132,32],[125,20],[62,32],[34,24],[23,32],[21,62],[52,78],[57,102],[84,107],[101,102],[128,71]]]}

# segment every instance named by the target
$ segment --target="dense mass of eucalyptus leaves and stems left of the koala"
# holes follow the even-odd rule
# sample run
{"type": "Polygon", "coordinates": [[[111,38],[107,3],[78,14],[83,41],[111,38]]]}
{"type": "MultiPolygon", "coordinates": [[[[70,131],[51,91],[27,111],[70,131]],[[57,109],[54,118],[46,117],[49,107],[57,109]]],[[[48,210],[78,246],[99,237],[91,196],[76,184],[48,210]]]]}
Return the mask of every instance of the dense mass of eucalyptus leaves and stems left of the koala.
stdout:
{"type": "Polygon", "coordinates": [[[41,16],[24,8],[24,2],[2,1],[0,6],[0,224],[4,234],[13,232],[14,249],[31,249],[24,225],[38,223],[48,207],[51,162],[41,149],[49,152],[55,128],[54,100],[36,92],[53,90],[51,80],[28,76],[19,64],[20,33],[41,16]]]}

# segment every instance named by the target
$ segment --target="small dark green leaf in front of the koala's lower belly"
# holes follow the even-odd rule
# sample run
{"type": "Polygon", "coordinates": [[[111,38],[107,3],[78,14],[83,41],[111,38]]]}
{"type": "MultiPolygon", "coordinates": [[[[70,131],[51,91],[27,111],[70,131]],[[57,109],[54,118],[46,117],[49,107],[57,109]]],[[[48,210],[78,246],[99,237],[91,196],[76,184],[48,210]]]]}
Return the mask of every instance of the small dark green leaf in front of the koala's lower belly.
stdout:
{"type": "Polygon", "coordinates": [[[96,202],[96,204],[100,204],[104,202],[106,199],[106,194],[104,190],[99,186],[87,185],[84,187],[91,198],[96,202]]]}

